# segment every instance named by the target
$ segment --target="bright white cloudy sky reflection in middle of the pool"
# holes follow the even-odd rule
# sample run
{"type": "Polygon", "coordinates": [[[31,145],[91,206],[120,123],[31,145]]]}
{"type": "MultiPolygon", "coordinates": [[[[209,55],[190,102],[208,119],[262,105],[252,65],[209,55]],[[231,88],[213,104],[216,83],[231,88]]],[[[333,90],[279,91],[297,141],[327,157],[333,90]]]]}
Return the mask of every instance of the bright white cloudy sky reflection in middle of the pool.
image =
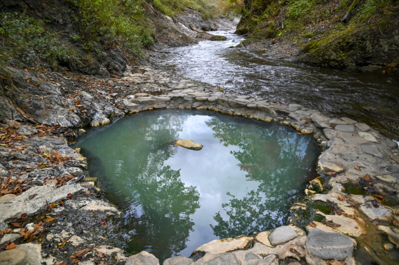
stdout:
{"type": "MultiPolygon", "coordinates": [[[[195,232],[190,233],[187,249],[181,253],[188,256],[200,244],[217,238],[209,225],[216,224],[213,215],[222,211],[221,205],[231,199],[226,193],[230,192],[236,198],[242,198],[249,190],[256,190],[259,185],[257,181],[246,180],[246,172],[237,166],[240,161],[230,153],[231,150],[239,151],[239,147],[226,147],[218,138],[209,137],[213,131],[206,126],[205,121],[211,118],[190,116],[179,135],[181,139],[201,143],[203,148],[200,151],[179,147],[177,154],[165,161],[173,169],[181,169],[185,186],[195,186],[200,192],[200,209],[191,216],[195,223],[195,232]]],[[[222,216],[227,217],[224,214],[222,216]]]]}

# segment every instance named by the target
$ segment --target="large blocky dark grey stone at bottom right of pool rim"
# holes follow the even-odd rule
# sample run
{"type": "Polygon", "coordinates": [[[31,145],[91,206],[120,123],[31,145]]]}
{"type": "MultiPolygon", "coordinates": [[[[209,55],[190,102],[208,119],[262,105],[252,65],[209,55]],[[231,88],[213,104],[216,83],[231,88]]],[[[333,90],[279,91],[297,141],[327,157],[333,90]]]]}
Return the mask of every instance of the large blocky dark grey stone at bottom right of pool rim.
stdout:
{"type": "Polygon", "coordinates": [[[312,256],[325,260],[343,260],[353,252],[353,242],[348,236],[318,228],[309,231],[306,247],[312,256]]]}

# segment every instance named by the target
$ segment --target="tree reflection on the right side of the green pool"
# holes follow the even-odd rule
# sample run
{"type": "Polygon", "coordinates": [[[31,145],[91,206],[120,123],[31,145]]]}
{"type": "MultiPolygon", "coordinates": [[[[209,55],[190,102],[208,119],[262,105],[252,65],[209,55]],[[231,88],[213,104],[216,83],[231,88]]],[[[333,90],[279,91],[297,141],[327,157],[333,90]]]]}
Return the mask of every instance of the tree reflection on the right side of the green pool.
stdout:
{"type": "Polygon", "coordinates": [[[248,124],[254,127],[248,130],[242,124],[223,123],[217,118],[206,125],[223,145],[240,147],[230,153],[240,161],[239,167],[247,172],[248,180],[260,182],[243,198],[227,193],[231,199],[222,204],[223,211],[213,216],[217,224],[210,225],[214,235],[236,237],[286,223],[288,209],[281,209],[281,202],[290,201],[298,193],[296,188],[308,180],[306,172],[310,174],[317,158],[317,146],[311,137],[277,126],[248,124]]]}

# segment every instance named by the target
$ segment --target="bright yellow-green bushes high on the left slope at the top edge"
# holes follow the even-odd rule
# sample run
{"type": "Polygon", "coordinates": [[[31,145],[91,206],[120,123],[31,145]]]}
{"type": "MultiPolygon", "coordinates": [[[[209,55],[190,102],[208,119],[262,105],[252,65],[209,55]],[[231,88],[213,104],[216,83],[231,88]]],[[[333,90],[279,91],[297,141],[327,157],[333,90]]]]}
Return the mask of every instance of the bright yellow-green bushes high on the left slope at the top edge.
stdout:
{"type": "Polygon", "coordinates": [[[69,0],[76,7],[74,22],[84,48],[93,50],[99,40],[105,48],[122,45],[138,53],[154,41],[141,0],[69,0]]]}

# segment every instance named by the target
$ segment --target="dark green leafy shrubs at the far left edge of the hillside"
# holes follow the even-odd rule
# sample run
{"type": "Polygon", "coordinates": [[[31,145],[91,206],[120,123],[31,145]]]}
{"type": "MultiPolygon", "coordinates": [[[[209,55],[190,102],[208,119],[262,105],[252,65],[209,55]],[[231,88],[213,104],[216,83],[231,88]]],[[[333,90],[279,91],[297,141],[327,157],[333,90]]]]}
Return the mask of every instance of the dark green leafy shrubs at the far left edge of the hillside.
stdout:
{"type": "Polygon", "coordinates": [[[78,55],[58,41],[58,33],[47,31],[41,22],[26,15],[0,13],[0,68],[13,64],[68,66],[73,68],[78,55]]]}

